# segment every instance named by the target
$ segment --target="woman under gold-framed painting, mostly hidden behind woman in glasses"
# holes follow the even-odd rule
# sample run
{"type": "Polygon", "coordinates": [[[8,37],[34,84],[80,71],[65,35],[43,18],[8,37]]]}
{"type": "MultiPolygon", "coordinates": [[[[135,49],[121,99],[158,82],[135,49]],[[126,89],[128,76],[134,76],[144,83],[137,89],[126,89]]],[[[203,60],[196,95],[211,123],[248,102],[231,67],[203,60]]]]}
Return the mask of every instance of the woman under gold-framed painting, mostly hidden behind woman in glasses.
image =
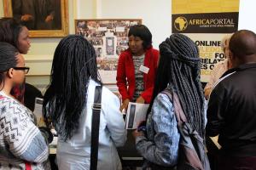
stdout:
{"type": "MultiPolygon", "coordinates": [[[[20,54],[27,54],[30,48],[30,39],[26,26],[20,25],[13,18],[0,19],[0,42],[9,42],[17,48],[20,54]]],[[[11,90],[21,103],[24,103],[25,81],[11,90]]]]}

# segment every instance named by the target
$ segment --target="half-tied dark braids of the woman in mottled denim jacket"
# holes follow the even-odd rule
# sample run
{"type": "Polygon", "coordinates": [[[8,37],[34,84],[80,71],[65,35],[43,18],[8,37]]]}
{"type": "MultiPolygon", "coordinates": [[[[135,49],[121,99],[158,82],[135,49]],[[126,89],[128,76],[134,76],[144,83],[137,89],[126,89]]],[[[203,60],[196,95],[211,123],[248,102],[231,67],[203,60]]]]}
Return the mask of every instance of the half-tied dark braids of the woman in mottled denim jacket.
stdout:
{"type": "Polygon", "coordinates": [[[189,37],[172,34],[160,44],[160,63],[154,84],[153,99],[164,89],[177,93],[184,114],[204,137],[204,97],[200,80],[201,59],[198,48],[189,37]]]}

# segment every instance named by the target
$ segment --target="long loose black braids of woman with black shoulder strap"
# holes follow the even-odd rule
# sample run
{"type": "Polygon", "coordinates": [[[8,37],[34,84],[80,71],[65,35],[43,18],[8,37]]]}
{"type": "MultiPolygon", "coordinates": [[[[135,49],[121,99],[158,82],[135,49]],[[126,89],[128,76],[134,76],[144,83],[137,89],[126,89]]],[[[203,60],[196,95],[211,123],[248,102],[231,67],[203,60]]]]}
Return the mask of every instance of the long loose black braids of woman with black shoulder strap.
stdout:
{"type": "Polygon", "coordinates": [[[90,78],[102,84],[97,72],[95,49],[84,37],[64,37],[55,49],[43,111],[44,118],[57,125],[64,140],[71,139],[79,128],[90,78]]]}

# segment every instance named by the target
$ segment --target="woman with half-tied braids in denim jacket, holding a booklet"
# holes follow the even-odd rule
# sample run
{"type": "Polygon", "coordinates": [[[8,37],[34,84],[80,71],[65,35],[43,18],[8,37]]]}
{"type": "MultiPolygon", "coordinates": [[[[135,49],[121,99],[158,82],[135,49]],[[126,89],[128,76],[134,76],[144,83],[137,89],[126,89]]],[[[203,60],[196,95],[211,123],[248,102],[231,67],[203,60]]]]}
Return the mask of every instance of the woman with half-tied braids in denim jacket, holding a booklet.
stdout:
{"type": "Polygon", "coordinates": [[[205,135],[204,96],[200,82],[201,59],[195,43],[182,34],[172,34],[160,44],[160,61],[148,108],[146,131],[135,131],[138,152],[147,160],[143,167],[165,169],[177,164],[180,134],[173,102],[175,92],[188,122],[205,135]],[[147,135],[146,135],[147,133],[147,135]]]}

